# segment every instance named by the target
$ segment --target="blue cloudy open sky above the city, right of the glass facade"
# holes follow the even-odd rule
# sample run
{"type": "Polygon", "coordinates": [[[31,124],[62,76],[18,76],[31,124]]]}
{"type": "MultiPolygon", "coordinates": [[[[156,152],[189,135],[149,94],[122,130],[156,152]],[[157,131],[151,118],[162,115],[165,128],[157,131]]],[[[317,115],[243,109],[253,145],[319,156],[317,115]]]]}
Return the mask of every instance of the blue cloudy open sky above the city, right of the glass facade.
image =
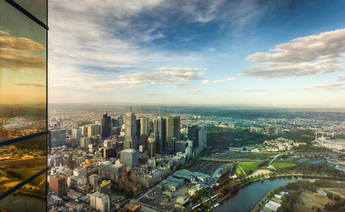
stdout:
{"type": "Polygon", "coordinates": [[[345,107],[344,1],[49,1],[48,102],[345,107]]]}

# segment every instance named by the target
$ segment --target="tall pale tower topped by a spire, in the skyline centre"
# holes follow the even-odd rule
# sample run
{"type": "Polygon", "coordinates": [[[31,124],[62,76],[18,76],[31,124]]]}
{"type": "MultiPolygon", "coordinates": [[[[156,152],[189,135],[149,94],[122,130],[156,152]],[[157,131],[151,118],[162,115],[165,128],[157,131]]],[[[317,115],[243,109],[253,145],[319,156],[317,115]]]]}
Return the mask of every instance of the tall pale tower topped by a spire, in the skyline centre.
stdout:
{"type": "Polygon", "coordinates": [[[137,149],[136,142],[136,116],[132,112],[132,106],[125,116],[125,142],[123,149],[137,149]]]}

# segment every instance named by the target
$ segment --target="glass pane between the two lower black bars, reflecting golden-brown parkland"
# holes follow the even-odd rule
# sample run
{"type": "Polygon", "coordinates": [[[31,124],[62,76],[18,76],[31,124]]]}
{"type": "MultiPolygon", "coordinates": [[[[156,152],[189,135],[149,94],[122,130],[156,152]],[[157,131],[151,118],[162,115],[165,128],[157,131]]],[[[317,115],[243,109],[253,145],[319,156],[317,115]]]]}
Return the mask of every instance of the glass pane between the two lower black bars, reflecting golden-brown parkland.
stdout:
{"type": "Polygon", "coordinates": [[[0,147],[0,194],[45,167],[47,135],[0,147]]]}

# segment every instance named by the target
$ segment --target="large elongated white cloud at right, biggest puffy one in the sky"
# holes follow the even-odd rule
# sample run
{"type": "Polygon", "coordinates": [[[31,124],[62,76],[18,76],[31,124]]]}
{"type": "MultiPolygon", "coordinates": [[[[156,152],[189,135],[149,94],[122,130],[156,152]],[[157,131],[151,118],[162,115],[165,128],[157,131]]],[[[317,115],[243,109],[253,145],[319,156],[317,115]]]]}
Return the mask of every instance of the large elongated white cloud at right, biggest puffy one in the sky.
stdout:
{"type": "Polygon", "coordinates": [[[246,60],[256,62],[237,75],[260,79],[305,76],[344,70],[337,63],[345,56],[345,29],[327,31],[290,40],[270,53],[258,52],[246,60]]]}

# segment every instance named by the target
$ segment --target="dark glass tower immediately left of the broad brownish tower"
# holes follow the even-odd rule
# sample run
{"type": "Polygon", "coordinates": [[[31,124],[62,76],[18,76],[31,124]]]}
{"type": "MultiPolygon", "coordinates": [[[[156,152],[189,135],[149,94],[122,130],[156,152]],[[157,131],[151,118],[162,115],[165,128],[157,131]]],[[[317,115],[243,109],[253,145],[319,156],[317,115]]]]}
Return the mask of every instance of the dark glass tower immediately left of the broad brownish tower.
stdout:
{"type": "Polygon", "coordinates": [[[153,133],[156,141],[156,151],[162,153],[166,143],[166,119],[157,117],[153,119],[153,133]]]}

